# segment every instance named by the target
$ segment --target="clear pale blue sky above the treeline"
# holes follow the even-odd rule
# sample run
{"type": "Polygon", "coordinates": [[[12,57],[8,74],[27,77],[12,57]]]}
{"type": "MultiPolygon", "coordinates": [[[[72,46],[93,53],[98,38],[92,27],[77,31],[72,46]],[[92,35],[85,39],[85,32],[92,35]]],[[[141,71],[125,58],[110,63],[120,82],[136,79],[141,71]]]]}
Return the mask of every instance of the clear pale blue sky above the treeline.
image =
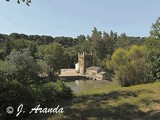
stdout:
{"type": "Polygon", "coordinates": [[[0,33],[77,37],[99,31],[149,36],[160,0],[0,0],[0,33]]]}

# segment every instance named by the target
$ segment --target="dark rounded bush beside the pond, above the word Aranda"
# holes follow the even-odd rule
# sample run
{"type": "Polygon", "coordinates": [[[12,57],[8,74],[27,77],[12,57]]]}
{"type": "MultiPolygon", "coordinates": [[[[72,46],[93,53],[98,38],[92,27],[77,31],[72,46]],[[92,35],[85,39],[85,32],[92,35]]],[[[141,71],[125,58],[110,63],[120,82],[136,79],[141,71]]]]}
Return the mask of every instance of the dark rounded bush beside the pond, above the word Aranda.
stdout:
{"type": "Polygon", "coordinates": [[[72,98],[72,90],[66,86],[64,82],[58,80],[57,82],[49,82],[42,85],[38,91],[39,103],[50,105],[58,104],[64,100],[72,98]]]}

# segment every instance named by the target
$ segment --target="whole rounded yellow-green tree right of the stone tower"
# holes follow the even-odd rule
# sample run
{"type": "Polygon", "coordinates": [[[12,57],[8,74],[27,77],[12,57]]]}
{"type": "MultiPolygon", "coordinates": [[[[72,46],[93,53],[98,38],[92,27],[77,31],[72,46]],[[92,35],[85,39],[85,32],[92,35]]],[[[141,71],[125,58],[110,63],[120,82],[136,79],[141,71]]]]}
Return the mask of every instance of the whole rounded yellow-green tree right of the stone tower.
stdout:
{"type": "Polygon", "coordinates": [[[130,86],[153,81],[149,76],[150,64],[145,46],[133,45],[131,49],[117,49],[107,63],[115,73],[115,78],[122,86],[130,86]]]}

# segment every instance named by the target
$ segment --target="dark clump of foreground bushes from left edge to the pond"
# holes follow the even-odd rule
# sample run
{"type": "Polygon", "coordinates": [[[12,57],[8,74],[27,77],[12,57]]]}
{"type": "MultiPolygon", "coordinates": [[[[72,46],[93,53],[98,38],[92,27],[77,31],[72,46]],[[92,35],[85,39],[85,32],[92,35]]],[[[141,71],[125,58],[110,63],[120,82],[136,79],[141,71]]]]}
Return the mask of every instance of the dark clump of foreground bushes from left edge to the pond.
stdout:
{"type": "MultiPolygon", "coordinates": [[[[44,107],[59,105],[65,100],[72,98],[72,90],[62,81],[49,82],[46,84],[31,84],[26,86],[17,80],[0,80],[0,118],[16,118],[17,108],[20,104],[24,105],[24,114],[20,114],[18,119],[28,116],[31,108],[40,104],[44,107]],[[6,113],[6,108],[12,106],[15,112],[11,115],[6,113]]],[[[17,119],[17,118],[16,118],[17,119]]]]}

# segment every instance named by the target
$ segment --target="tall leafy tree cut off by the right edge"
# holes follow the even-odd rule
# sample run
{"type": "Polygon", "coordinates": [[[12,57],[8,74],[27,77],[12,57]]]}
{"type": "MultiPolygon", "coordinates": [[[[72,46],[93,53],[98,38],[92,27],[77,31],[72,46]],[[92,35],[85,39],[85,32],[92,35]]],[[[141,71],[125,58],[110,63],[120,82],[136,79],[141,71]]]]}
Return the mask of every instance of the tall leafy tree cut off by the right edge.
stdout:
{"type": "Polygon", "coordinates": [[[152,24],[150,37],[145,42],[148,49],[148,62],[152,65],[151,74],[154,79],[160,79],[160,17],[152,24]]]}

